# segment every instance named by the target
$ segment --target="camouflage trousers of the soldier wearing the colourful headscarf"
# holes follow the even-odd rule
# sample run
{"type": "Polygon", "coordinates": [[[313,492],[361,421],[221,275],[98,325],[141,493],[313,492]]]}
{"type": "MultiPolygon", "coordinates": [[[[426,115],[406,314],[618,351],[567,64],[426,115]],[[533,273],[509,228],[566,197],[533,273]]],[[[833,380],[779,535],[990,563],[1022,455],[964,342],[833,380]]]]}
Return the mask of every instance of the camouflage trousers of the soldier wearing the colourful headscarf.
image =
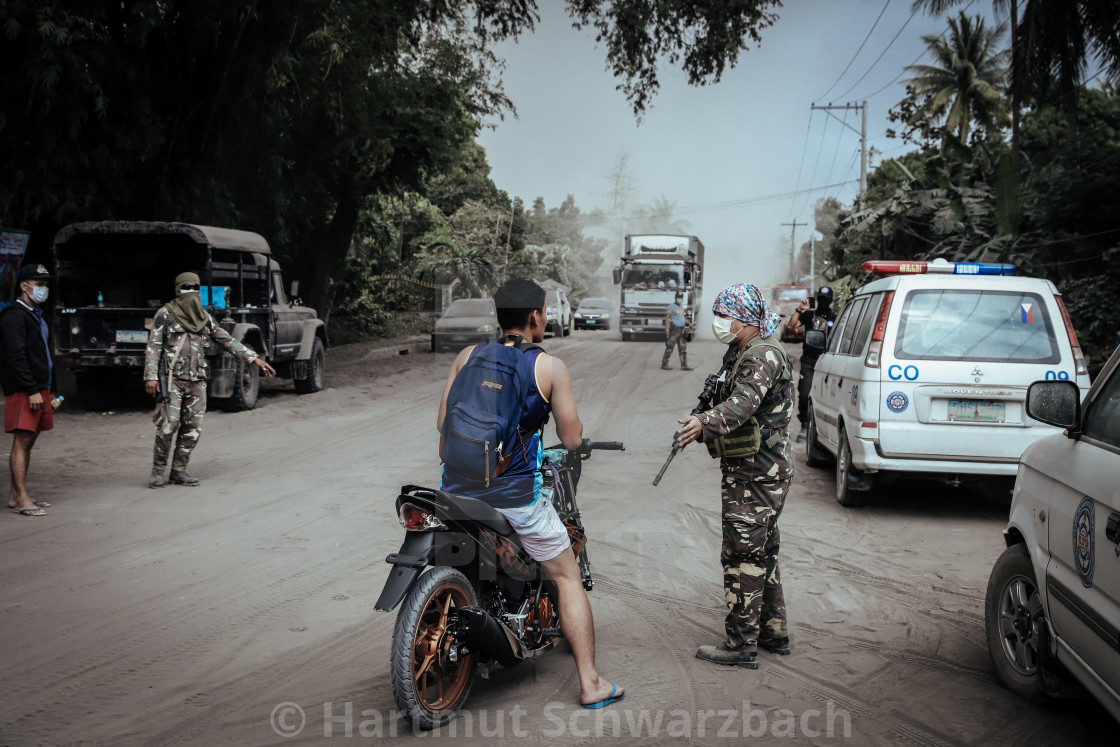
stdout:
{"type": "Polygon", "coordinates": [[[758,638],[788,635],[777,567],[777,517],[792,479],[758,482],[724,474],[724,595],[727,645],[755,651],[758,638]]]}

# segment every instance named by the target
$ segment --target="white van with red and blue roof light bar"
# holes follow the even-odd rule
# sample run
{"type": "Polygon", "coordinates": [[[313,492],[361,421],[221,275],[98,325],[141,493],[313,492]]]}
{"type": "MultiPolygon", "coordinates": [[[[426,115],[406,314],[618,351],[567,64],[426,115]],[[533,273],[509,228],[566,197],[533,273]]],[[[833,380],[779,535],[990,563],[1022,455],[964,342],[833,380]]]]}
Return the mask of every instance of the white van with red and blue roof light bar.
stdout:
{"type": "MultiPolygon", "coordinates": [[[[1057,289],[1009,264],[865,262],[816,362],[810,466],[836,459],[837,501],[862,505],[880,476],[1014,478],[1054,432],[1027,417],[1027,385],[1072,381],[1085,358],[1057,289]]],[[[814,336],[815,337],[815,336],[814,336]]],[[[810,340],[812,342],[812,340],[810,340]]]]}

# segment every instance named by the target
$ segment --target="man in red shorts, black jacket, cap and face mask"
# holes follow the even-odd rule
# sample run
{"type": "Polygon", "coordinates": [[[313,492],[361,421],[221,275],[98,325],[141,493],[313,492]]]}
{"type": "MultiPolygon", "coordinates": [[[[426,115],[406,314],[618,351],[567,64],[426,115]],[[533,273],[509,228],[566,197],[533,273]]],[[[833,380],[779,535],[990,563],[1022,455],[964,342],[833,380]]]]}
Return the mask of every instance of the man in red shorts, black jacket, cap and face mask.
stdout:
{"type": "Polygon", "coordinates": [[[24,516],[45,516],[46,501],[27,494],[27,465],[39,432],[55,427],[50,408],[53,364],[47,323],[40,308],[47,302],[50,273],[41,264],[19,269],[19,298],[0,314],[3,332],[3,429],[11,433],[11,495],[8,507],[24,516]]]}

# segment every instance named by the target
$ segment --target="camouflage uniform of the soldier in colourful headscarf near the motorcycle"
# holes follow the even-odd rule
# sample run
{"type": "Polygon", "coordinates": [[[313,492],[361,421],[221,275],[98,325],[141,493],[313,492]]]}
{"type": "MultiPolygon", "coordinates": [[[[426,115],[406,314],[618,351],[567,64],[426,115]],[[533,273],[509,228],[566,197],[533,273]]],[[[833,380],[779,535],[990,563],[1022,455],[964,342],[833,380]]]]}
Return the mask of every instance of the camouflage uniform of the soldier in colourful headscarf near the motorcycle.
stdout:
{"type": "MultiPolygon", "coordinates": [[[[793,480],[793,452],[787,428],[794,411],[793,367],[785,351],[748,343],[734,382],[722,385],[719,404],[701,413],[704,441],[726,436],[754,415],[763,443],[753,457],[720,460],[724,512],[724,594],[728,615],[727,645],[755,651],[759,635],[788,635],[785,597],[777,567],[781,535],[777,519],[793,480]],[[767,446],[766,429],[781,431],[767,446]],[[760,628],[760,629],[759,629],[760,628]]],[[[730,375],[730,365],[728,374],[730,375]]]]}

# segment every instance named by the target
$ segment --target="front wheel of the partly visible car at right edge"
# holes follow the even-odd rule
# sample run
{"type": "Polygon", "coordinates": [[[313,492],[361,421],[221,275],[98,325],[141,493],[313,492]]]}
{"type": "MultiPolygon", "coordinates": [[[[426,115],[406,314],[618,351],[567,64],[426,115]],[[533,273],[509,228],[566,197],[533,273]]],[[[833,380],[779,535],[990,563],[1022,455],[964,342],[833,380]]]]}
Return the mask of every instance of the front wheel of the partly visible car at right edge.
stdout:
{"type": "Polygon", "coordinates": [[[1039,679],[1040,656],[1049,645],[1030,555],[1012,544],[991,569],[984,598],[984,633],[996,679],[1033,703],[1047,700],[1039,679]]]}

